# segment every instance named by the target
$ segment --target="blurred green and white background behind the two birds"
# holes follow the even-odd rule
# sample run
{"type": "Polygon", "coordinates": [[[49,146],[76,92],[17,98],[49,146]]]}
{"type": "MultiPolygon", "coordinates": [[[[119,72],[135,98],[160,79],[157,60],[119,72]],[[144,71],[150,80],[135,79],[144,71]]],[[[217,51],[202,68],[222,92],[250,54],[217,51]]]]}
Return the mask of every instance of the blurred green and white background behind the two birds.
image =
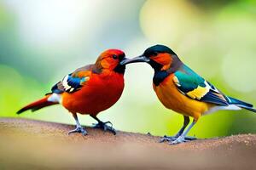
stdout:
{"type": "MultiPolygon", "coordinates": [[[[73,123],[60,105],[16,116],[63,76],[94,63],[106,48],[128,57],[156,43],[225,94],[256,105],[256,1],[254,0],[1,0],[0,116],[73,123]]],[[[128,65],[125,91],[99,117],[119,130],[174,134],[183,116],[167,110],[152,88],[149,65],[128,65]]],[[[90,125],[90,116],[79,116],[90,125]]],[[[256,115],[218,111],[202,116],[190,135],[256,133],[256,115]]]]}

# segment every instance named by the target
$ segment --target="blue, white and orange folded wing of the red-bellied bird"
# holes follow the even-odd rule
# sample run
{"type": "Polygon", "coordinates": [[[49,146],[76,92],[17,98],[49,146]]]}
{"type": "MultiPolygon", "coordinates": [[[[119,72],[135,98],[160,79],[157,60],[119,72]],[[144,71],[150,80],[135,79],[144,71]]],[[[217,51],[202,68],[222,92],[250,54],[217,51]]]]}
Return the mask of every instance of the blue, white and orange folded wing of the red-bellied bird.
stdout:
{"type": "Polygon", "coordinates": [[[85,65],[68,74],[51,88],[52,93],[62,94],[64,92],[73,93],[78,91],[84,86],[84,82],[90,79],[92,68],[93,65],[85,65]]]}

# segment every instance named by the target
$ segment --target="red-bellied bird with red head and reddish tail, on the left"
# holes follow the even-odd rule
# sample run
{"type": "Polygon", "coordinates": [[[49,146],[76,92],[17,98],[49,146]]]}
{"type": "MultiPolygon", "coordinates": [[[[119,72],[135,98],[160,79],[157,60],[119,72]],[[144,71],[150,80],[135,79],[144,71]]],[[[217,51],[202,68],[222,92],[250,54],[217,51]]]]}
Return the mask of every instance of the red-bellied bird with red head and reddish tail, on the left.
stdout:
{"type": "Polygon", "coordinates": [[[85,65],[67,74],[51,88],[51,93],[45,94],[44,98],[21,108],[17,114],[61,104],[72,113],[76,122],[76,128],[69,131],[68,134],[88,134],[79,122],[78,113],[90,115],[97,121],[95,127],[116,134],[112,123],[102,122],[97,115],[114,105],[123,93],[125,65],[120,65],[123,59],[125,59],[123,51],[119,49],[105,50],[96,59],[95,64],[85,65]]]}

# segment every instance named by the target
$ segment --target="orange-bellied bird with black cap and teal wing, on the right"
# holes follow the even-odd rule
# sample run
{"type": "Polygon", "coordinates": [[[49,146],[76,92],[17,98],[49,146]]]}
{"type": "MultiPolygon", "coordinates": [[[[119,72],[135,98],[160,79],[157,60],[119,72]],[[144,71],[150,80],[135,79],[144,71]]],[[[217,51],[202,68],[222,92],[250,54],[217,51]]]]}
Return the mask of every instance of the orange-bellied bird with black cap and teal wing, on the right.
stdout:
{"type": "Polygon", "coordinates": [[[183,127],[178,133],[172,137],[165,135],[160,142],[179,144],[195,139],[186,136],[189,130],[201,116],[215,111],[246,109],[256,112],[253,105],[229,97],[215,88],[211,82],[183,64],[177,54],[165,45],[149,47],[142,55],[121,61],[121,65],[137,62],[148,63],[154,69],[153,88],[160,102],[167,109],[183,115],[183,127]],[[193,117],[190,125],[189,117],[193,117]]]}

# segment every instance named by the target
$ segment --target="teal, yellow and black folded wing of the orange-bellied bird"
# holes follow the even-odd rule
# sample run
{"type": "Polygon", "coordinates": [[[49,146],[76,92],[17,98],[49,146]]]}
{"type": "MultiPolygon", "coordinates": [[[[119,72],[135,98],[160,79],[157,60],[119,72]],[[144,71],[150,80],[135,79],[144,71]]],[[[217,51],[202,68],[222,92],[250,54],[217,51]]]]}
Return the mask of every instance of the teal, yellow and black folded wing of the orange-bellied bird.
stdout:
{"type": "Polygon", "coordinates": [[[229,99],[224,94],[186,65],[174,73],[173,82],[182,94],[191,99],[216,105],[229,105],[229,99]]]}

